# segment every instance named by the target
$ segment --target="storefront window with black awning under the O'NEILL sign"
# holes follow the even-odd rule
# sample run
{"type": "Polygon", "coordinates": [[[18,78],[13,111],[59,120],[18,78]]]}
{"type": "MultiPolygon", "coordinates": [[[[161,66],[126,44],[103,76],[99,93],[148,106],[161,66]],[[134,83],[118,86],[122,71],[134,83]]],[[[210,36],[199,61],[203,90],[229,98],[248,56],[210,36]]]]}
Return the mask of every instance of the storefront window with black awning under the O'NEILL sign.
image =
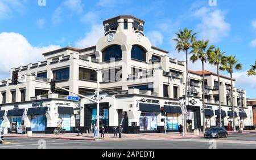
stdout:
{"type": "Polygon", "coordinates": [[[72,132],[71,116],[74,115],[73,107],[58,107],[59,117],[57,120],[57,127],[65,129],[65,131],[72,132]]]}

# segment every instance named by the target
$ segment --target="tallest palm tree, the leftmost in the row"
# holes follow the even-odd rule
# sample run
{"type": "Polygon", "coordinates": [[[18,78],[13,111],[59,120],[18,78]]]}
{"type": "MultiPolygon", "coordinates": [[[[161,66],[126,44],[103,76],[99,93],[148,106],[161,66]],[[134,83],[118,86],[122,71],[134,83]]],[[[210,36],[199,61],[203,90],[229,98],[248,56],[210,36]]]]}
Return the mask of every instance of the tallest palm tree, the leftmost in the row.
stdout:
{"type": "MultiPolygon", "coordinates": [[[[176,49],[178,53],[180,51],[185,51],[186,53],[186,82],[185,82],[185,109],[187,109],[187,95],[188,95],[188,50],[192,47],[193,42],[196,41],[196,33],[193,33],[193,30],[185,28],[183,31],[180,30],[179,33],[176,33],[176,49]]],[[[187,133],[187,117],[184,116],[184,133],[187,133]]]]}

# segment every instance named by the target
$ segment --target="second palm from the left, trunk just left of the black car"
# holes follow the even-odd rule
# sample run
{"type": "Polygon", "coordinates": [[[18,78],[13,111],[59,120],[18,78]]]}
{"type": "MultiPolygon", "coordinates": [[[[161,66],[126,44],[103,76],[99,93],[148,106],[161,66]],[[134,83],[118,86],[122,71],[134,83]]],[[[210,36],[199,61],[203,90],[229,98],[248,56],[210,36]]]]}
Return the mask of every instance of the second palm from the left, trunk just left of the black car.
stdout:
{"type": "Polygon", "coordinates": [[[209,40],[204,41],[196,41],[193,43],[193,50],[191,53],[193,53],[191,60],[193,63],[195,63],[197,60],[200,60],[202,63],[202,68],[203,68],[203,133],[205,132],[205,113],[204,113],[204,108],[205,108],[205,87],[204,87],[204,63],[207,62],[207,55],[212,52],[214,49],[214,46],[209,46],[209,40]]]}

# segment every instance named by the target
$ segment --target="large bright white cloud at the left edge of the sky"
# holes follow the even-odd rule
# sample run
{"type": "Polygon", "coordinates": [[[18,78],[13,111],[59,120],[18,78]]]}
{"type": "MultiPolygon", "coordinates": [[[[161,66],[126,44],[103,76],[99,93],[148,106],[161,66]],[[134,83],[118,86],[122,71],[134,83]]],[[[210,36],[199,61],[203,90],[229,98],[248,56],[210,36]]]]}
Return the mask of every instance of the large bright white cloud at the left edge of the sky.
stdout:
{"type": "Polygon", "coordinates": [[[0,75],[7,75],[10,68],[43,60],[42,53],[59,49],[60,46],[32,46],[22,34],[2,32],[0,33],[0,48],[0,75]]]}

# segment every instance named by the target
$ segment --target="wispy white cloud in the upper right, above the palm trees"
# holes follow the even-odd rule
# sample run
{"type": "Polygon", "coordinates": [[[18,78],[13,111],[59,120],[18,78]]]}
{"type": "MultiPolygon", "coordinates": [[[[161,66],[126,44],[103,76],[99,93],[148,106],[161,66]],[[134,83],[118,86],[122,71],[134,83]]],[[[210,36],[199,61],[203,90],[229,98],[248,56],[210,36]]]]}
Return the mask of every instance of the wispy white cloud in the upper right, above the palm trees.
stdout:
{"type": "Polygon", "coordinates": [[[200,38],[219,42],[222,38],[229,36],[231,25],[225,21],[225,13],[221,10],[210,11],[202,7],[196,10],[193,16],[201,19],[196,27],[200,38]]]}

